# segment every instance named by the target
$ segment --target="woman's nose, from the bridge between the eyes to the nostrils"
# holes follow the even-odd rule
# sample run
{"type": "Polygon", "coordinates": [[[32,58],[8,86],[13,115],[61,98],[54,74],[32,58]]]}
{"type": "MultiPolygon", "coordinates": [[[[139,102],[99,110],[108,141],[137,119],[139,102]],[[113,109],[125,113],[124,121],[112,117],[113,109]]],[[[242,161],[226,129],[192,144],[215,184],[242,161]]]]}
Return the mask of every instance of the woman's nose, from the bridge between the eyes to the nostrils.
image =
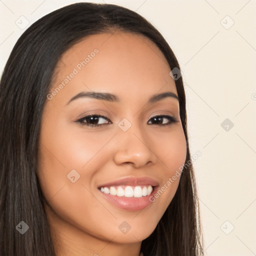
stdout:
{"type": "Polygon", "coordinates": [[[116,146],[114,160],[117,164],[122,162],[131,162],[137,167],[141,167],[147,162],[154,162],[155,155],[149,148],[149,141],[146,132],[143,131],[143,125],[134,121],[123,118],[118,123],[117,137],[118,145],[116,146]]]}

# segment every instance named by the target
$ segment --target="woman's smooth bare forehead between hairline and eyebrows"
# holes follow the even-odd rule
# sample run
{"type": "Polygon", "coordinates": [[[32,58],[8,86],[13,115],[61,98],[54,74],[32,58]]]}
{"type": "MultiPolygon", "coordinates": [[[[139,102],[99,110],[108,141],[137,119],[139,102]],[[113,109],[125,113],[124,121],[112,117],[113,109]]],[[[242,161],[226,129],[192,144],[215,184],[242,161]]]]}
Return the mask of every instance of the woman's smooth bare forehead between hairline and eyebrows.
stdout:
{"type": "Polygon", "coordinates": [[[161,88],[176,93],[170,67],[160,49],[148,38],[114,31],[90,35],[69,48],[57,64],[53,88],[70,73],[62,96],[79,90],[116,92],[119,96],[154,94],[161,88]]]}

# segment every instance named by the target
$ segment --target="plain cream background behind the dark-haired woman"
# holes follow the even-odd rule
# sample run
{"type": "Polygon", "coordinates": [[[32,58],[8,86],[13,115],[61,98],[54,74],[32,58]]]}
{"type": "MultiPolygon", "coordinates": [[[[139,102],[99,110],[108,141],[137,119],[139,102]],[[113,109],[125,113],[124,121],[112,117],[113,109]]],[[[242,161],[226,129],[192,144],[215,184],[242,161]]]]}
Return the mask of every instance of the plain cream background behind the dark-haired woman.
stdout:
{"type": "MultiPolygon", "coordinates": [[[[73,2],[1,0],[0,72],[27,28],[16,25],[20,16],[25,17],[23,25],[32,24],[73,2]]],[[[256,255],[255,0],[92,2],[135,10],[158,28],[178,58],[187,95],[191,154],[201,152],[194,168],[205,255],[256,255]]]]}

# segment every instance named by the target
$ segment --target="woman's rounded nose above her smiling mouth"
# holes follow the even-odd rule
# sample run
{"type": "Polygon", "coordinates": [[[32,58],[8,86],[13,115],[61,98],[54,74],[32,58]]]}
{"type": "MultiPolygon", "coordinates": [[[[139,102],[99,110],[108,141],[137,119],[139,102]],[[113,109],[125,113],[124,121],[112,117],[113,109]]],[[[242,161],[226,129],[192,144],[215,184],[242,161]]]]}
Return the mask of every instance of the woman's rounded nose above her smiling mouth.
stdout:
{"type": "Polygon", "coordinates": [[[113,156],[117,165],[130,164],[135,168],[154,164],[157,160],[150,137],[134,124],[127,131],[118,130],[113,156]]]}

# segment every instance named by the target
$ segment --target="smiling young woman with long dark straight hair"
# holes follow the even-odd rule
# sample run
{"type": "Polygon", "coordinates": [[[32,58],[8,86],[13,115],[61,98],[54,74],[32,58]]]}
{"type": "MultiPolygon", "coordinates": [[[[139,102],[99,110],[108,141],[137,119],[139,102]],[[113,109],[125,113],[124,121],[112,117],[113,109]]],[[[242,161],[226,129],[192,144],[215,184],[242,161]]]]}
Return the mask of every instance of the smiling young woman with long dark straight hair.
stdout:
{"type": "Polygon", "coordinates": [[[75,3],[0,81],[0,255],[202,255],[178,62],[139,14],[75,3]]]}

